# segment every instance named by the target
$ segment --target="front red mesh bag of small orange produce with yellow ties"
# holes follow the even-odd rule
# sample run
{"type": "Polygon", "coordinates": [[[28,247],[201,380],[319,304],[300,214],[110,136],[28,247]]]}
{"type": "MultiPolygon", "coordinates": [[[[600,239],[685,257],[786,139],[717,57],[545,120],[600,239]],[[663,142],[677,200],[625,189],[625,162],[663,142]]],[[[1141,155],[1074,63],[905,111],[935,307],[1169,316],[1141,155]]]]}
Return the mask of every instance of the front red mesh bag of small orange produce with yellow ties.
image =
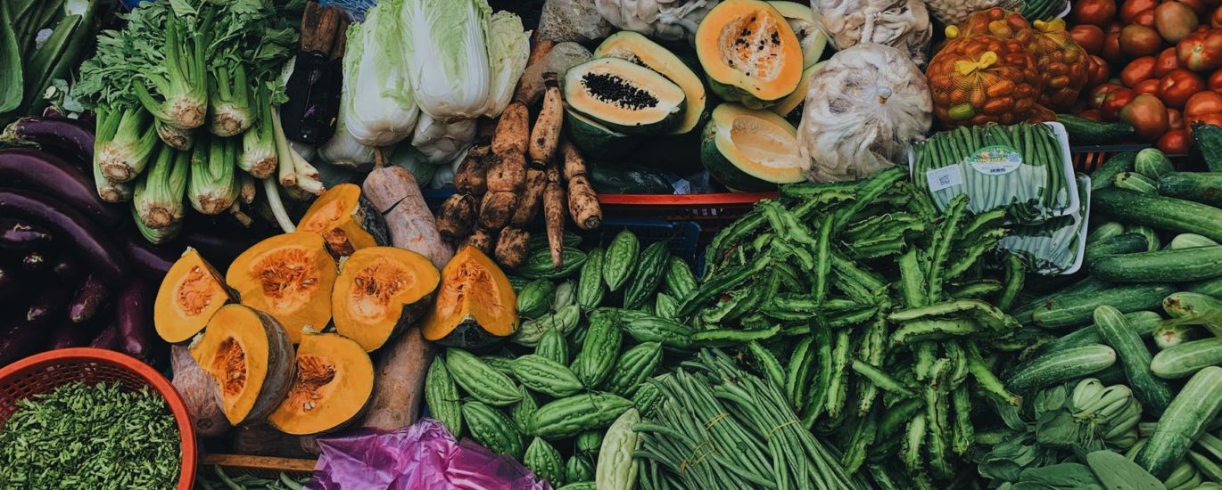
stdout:
{"type": "Polygon", "coordinates": [[[1056,117],[1037,104],[1040,73],[1023,43],[993,35],[948,40],[925,71],[946,127],[1056,117]]]}

